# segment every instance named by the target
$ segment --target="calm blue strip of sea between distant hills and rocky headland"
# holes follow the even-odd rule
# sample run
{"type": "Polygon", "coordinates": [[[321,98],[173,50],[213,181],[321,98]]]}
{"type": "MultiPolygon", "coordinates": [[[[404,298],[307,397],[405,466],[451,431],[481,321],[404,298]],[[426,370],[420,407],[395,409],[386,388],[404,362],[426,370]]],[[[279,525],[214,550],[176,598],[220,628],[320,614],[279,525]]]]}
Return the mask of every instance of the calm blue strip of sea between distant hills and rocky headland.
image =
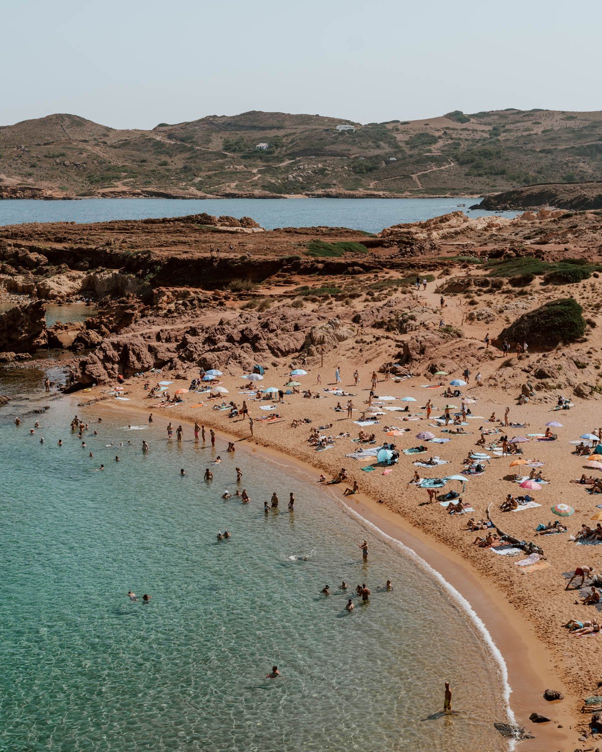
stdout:
{"type": "MultiPolygon", "coordinates": [[[[106,222],[187,214],[253,217],[262,227],[351,227],[379,232],[400,222],[417,222],[451,211],[486,217],[491,211],[468,211],[481,199],[85,199],[84,201],[0,201],[0,225],[24,222],[106,222]],[[466,208],[458,207],[465,204],[466,208]]],[[[515,217],[518,212],[495,212],[515,217]]]]}

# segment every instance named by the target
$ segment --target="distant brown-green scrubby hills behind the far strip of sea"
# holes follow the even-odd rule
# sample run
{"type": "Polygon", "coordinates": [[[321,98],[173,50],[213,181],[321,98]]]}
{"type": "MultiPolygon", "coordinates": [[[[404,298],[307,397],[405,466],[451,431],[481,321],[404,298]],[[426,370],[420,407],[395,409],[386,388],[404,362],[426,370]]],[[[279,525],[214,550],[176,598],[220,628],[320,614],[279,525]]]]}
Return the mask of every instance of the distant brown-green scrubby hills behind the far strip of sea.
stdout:
{"type": "Polygon", "coordinates": [[[54,114],[0,127],[2,197],[28,188],[54,197],[459,196],[594,180],[602,112],[454,111],[361,125],[251,111],[150,131],[54,114]]]}

